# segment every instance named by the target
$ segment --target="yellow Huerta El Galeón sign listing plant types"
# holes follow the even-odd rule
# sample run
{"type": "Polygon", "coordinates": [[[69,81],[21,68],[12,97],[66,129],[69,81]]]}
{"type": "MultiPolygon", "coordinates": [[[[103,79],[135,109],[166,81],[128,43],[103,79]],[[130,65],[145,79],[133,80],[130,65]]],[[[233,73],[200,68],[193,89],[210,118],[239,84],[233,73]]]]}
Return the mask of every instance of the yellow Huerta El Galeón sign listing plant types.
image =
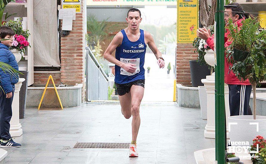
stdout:
{"type": "Polygon", "coordinates": [[[193,43],[198,29],[198,0],[177,2],[177,42],[193,43]]]}

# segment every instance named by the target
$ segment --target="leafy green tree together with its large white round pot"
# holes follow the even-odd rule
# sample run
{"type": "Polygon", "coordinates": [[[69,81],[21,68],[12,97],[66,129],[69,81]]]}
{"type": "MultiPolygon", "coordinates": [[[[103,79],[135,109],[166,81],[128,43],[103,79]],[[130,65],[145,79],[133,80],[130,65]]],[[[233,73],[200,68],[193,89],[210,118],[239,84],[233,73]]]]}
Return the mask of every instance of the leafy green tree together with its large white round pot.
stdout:
{"type": "MultiPolygon", "coordinates": [[[[230,116],[228,117],[229,123],[238,123],[237,125],[231,126],[229,132],[230,140],[233,141],[248,141],[252,142],[252,139],[257,135],[266,136],[266,117],[256,116],[256,86],[260,82],[266,79],[266,30],[258,30],[259,23],[251,18],[242,21],[242,27],[239,30],[230,20],[230,25],[227,27],[230,30],[230,39],[232,39],[238,33],[236,41],[233,41],[232,46],[227,49],[229,62],[233,65],[231,69],[239,78],[243,81],[249,79],[253,89],[253,116],[252,115],[241,115],[241,116],[230,116]],[[243,30],[242,30],[243,29],[243,30]],[[252,31],[252,33],[251,33],[252,31]],[[251,44],[248,43],[252,41],[251,44]],[[243,44],[243,47],[239,48],[240,51],[248,50],[250,53],[247,59],[244,61],[235,61],[233,59],[234,46],[243,44]],[[251,124],[250,124],[251,123],[251,124]],[[253,124],[257,124],[254,127],[253,124]],[[248,131],[243,130],[248,129],[248,131]]],[[[241,54],[240,54],[241,55],[241,54]]]]}

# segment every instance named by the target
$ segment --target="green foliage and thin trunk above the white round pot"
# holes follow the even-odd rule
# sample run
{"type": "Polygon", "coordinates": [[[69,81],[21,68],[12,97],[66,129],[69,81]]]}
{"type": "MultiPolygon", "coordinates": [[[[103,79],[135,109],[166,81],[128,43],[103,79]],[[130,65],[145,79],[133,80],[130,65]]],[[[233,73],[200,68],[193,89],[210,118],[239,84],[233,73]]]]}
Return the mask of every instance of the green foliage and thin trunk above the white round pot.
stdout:
{"type": "Polygon", "coordinates": [[[256,86],[266,79],[266,30],[258,30],[259,24],[255,19],[248,18],[242,21],[241,29],[236,27],[232,20],[228,29],[230,39],[233,40],[227,49],[229,62],[233,64],[231,69],[240,81],[249,80],[253,89],[253,118],[256,119],[256,86]],[[242,30],[243,29],[243,30],[242,30]],[[236,61],[233,58],[233,48],[250,52],[244,61],[236,61]]]}

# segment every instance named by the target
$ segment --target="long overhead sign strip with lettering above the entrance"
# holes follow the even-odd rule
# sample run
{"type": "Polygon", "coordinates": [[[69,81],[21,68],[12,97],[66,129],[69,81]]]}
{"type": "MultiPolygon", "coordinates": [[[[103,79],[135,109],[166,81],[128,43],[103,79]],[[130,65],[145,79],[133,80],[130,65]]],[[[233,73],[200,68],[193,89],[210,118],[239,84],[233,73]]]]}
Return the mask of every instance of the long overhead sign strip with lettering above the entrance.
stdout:
{"type": "Polygon", "coordinates": [[[176,5],[177,0],[86,0],[87,6],[138,6],[138,5],[176,5]]]}

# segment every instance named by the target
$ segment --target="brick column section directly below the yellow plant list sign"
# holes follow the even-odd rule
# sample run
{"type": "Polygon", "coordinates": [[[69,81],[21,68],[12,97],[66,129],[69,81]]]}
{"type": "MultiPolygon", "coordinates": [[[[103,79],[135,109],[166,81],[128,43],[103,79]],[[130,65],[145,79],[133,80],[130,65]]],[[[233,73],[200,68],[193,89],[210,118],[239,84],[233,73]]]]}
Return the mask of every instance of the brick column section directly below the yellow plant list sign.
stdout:
{"type": "Polygon", "coordinates": [[[176,56],[176,83],[191,85],[189,60],[196,60],[192,43],[178,43],[176,56]]]}

